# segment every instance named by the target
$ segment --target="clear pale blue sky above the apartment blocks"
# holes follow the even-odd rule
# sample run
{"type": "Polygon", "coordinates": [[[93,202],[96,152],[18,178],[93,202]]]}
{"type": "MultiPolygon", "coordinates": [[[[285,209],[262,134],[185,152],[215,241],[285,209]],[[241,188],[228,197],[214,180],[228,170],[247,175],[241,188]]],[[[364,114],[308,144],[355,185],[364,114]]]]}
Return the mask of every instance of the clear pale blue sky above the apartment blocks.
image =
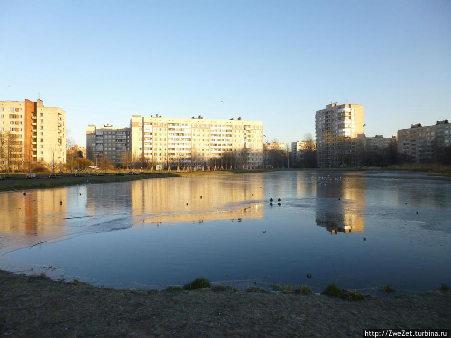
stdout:
{"type": "Polygon", "coordinates": [[[68,137],[132,115],[263,121],[315,138],[364,105],[365,134],[451,119],[451,1],[0,0],[0,101],[66,111],[68,137]],[[223,101],[223,103],[221,102],[223,101]]]}

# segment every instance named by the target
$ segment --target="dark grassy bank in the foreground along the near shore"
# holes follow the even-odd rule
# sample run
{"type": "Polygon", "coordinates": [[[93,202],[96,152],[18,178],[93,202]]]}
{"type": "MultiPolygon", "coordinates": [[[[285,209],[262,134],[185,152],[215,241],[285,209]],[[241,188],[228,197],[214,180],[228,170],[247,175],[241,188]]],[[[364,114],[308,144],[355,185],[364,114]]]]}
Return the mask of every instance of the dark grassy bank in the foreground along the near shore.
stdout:
{"type": "Polygon", "coordinates": [[[362,336],[449,328],[450,293],[344,300],[212,289],[96,288],[0,271],[0,333],[12,336],[362,336]]]}

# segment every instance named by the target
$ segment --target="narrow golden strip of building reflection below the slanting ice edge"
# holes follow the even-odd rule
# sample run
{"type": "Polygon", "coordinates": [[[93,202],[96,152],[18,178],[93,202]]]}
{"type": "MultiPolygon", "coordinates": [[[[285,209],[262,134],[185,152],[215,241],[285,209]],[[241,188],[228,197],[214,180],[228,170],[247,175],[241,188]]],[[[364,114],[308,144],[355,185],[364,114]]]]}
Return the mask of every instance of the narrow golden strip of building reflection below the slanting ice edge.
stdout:
{"type": "Polygon", "coordinates": [[[199,224],[207,221],[224,220],[229,219],[231,221],[237,220],[241,222],[243,219],[250,218],[262,218],[263,217],[263,204],[254,204],[246,208],[240,208],[238,210],[221,210],[211,212],[199,212],[177,215],[164,215],[148,218],[142,223],[151,223],[159,226],[162,223],[178,223],[178,222],[191,222],[199,224]]]}

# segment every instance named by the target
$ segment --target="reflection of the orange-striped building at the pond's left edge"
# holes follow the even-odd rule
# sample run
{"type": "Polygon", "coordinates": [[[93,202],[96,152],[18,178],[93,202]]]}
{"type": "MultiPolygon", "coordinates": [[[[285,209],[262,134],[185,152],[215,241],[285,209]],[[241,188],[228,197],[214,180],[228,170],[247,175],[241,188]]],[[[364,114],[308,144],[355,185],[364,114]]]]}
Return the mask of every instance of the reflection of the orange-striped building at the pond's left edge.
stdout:
{"type": "Polygon", "coordinates": [[[0,231],[9,235],[61,235],[61,214],[66,213],[66,189],[32,190],[0,194],[0,231]],[[60,204],[60,201],[63,204],[60,204]]]}

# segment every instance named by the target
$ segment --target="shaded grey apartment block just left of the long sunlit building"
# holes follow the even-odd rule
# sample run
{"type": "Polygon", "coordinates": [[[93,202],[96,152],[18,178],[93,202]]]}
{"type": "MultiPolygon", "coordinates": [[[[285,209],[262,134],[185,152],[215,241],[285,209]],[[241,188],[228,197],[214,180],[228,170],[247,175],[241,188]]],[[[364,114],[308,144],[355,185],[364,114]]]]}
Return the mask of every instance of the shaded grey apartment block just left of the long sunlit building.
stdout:
{"type": "Polygon", "coordinates": [[[123,163],[130,150],[130,128],[88,125],[86,128],[86,157],[96,163],[99,155],[113,163],[123,163]]]}

